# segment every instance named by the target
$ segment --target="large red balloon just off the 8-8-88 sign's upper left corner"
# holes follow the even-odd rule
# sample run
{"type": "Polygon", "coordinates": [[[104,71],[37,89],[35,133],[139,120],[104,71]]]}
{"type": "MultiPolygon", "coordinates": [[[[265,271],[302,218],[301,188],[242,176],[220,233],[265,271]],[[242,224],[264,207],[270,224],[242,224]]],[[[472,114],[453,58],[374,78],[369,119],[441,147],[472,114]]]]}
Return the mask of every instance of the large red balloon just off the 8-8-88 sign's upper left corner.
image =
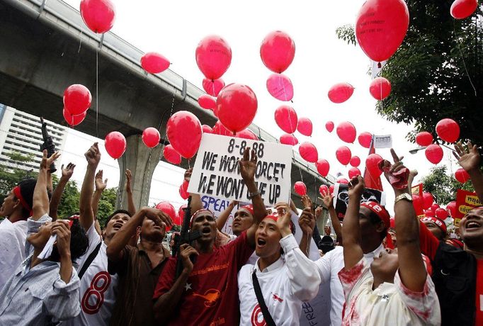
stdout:
{"type": "Polygon", "coordinates": [[[176,152],[186,159],[191,159],[200,147],[200,120],[191,112],[178,111],[169,118],[166,135],[176,152]]]}

